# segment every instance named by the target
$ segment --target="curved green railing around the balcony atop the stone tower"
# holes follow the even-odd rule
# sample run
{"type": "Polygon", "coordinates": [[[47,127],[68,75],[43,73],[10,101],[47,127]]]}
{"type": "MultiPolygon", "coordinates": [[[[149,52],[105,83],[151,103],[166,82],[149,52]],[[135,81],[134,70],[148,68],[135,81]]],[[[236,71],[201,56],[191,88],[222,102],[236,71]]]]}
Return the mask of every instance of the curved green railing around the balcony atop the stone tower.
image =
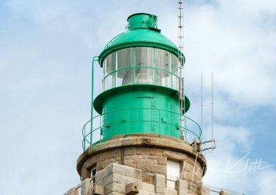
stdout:
{"type": "MultiPolygon", "coordinates": [[[[120,111],[123,111],[123,110],[132,110],[133,111],[133,110],[138,110],[138,109],[141,109],[141,108],[121,109],[120,111]]],[[[143,109],[164,112],[164,110],[155,109],[155,108],[143,108],[143,109]]],[[[86,150],[92,144],[95,144],[96,142],[99,143],[99,142],[103,141],[103,129],[106,128],[106,126],[122,123],[122,122],[113,122],[112,124],[103,125],[103,117],[107,114],[112,114],[115,112],[118,112],[118,111],[112,111],[109,113],[103,113],[102,115],[97,115],[97,116],[93,117],[92,119],[90,119],[88,122],[86,122],[86,124],[84,124],[84,126],[82,128],[83,151],[86,150]]],[[[172,113],[170,111],[165,111],[165,112],[172,113]]],[[[179,130],[179,135],[180,135],[179,139],[184,139],[188,143],[192,143],[194,141],[194,139],[198,139],[199,141],[201,141],[201,127],[199,126],[199,124],[197,124],[195,121],[193,121],[193,119],[190,119],[189,117],[186,117],[184,115],[180,115],[179,113],[172,113],[172,114],[179,115],[179,119],[180,119],[180,117],[182,117],[182,119],[183,119],[182,125],[179,125],[179,126],[177,126],[176,124],[170,124],[169,122],[166,122],[166,124],[175,126],[175,129],[179,130]]],[[[148,120],[148,121],[127,120],[127,122],[152,122],[152,123],[159,123],[159,125],[161,125],[163,123],[163,122],[161,122],[161,119],[148,120]]],[[[130,130],[128,130],[128,132],[130,132],[130,133],[126,134],[126,136],[128,136],[130,134],[134,134],[134,133],[131,133],[131,127],[128,126],[128,128],[130,128],[130,130]]],[[[159,128],[159,130],[160,130],[160,128],[159,128]]],[[[159,134],[159,135],[161,135],[161,134],[159,134]]]]}

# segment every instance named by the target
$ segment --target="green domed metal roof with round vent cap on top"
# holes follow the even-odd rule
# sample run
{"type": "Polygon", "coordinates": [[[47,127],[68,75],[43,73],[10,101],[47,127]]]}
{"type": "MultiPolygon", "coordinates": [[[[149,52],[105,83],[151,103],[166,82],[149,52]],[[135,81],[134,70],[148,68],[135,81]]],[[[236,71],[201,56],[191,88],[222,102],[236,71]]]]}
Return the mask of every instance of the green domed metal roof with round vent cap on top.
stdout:
{"type": "Polygon", "coordinates": [[[160,34],[161,30],[157,28],[157,16],[144,13],[133,14],[128,17],[128,22],[130,31],[112,38],[99,55],[100,65],[108,54],[128,47],[157,47],[178,55],[175,44],[160,34]]]}

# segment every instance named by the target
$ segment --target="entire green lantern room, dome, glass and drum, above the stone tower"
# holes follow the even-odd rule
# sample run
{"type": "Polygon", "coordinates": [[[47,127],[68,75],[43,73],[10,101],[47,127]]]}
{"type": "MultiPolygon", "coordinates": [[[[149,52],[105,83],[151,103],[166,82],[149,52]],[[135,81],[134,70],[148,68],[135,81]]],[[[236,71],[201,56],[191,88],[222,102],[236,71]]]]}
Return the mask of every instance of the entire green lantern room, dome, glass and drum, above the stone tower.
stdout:
{"type": "MultiPolygon", "coordinates": [[[[157,16],[133,14],[128,32],[113,38],[99,56],[103,93],[94,107],[103,115],[103,140],[154,133],[182,137],[179,51],[157,28],[157,16]]],[[[186,98],[185,111],[190,102],[186,98]]]]}

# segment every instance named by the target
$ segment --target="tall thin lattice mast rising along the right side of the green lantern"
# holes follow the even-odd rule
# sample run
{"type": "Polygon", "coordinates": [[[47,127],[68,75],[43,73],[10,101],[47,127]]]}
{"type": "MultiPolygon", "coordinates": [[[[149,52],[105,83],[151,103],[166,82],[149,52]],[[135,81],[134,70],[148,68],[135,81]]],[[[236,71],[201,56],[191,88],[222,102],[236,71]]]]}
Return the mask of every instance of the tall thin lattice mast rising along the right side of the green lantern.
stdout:
{"type": "MultiPolygon", "coordinates": [[[[179,58],[179,69],[180,69],[180,76],[179,76],[179,106],[181,111],[181,117],[180,117],[180,126],[181,126],[181,132],[183,133],[183,122],[185,120],[185,117],[182,116],[182,114],[185,115],[185,94],[184,94],[184,18],[183,18],[183,2],[179,0],[178,2],[178,58],[179,58]]],[[[185,137],[186,139],[186,137],[185,137]]]]}

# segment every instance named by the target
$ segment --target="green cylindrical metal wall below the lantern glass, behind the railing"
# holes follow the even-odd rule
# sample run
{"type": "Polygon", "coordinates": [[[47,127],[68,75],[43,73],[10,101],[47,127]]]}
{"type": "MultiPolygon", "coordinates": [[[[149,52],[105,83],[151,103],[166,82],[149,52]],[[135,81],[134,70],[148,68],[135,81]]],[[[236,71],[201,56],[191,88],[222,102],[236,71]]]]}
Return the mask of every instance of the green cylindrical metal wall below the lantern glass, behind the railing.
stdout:
{"type": "MultiPolygon", "coordinates": [[[[98,97],[95,104],[100,102],[98,97]]],[[[179,138],[180,111],[176,95],[144,87],[118,91],[104,99],[103,140],[132,133],[179,138]]]]}

